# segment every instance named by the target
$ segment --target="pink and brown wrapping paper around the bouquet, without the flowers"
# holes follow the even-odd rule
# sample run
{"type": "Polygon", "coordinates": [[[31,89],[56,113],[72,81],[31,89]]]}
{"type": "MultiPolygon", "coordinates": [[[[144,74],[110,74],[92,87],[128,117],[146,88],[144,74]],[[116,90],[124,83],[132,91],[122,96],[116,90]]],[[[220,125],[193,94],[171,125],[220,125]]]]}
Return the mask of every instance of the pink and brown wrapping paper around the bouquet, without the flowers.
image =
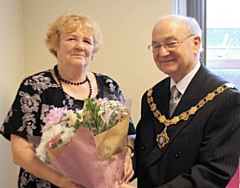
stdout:
{"type": "MultiPolygon", "coordinates": [[[[86,188],[117,188],[123,177],[129,118],[94,137],[80,127],[49,167],[86,188]]],[[[61,149],[60,149],[61,150],[61,149]]]]}

